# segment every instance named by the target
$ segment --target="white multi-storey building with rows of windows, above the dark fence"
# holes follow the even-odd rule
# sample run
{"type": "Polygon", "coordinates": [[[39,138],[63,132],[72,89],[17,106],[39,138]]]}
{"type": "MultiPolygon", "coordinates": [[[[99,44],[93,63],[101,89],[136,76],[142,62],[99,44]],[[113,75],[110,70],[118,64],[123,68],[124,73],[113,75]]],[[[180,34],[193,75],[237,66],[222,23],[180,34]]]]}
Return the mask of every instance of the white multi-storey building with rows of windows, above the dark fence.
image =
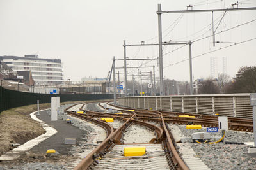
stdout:
{"type": "MultiPolygon", "coordinates": [[[[0,56],[0,61],[7,64],[16,73],[24,74],[27,82],[30,76],[38,85],[56,85],[63,82],[63,67],[60,59],[40,59],[38,55],[0,56]],[[23,72],[31,71],[31,73],[23,72]]],[[[33,82],[29,82],[31,84],[33,82]]]]}

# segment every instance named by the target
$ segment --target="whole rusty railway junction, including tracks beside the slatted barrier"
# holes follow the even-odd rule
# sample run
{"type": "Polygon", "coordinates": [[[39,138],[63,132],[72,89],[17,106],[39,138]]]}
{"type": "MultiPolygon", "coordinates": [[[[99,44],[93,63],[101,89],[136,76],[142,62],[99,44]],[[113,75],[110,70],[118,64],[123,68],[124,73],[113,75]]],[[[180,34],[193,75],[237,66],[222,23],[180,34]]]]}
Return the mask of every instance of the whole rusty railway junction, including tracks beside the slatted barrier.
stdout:
{"type": "MultiPolygon", "coordinates": [[[[109,105],[116,109],[116,106],[109,105]]],[[[104,109],[104,104],[99,106],[104,109]]],[[[195,118],[186,118],[179,117],[185,115],[184,113],[131,110],[120,106],[116,110],[122,111],[122,114],[115,114],[84,110],[83,107],[84,105],[79,110],[84,111],[85,114],[66,111],[69,115],[100,125],[106,129],[107,136],[75,169],[134,169],[134,167],[188,169],[176,150],[176,143],[167,124],[201,124],[205,127],[218,127],[218,117],[209,115],[186,114],[195,116],[195,118]],[[115,121],[106,123],[100,119],[104,117],[113,118],[115,121]],[[134,146],[146,147],[146,154],[125,157],[124,148],[134,146]]],[[[251,122],[248,119],[228,118],[229,129],[237,131],[252,132],[251,122]]]]}

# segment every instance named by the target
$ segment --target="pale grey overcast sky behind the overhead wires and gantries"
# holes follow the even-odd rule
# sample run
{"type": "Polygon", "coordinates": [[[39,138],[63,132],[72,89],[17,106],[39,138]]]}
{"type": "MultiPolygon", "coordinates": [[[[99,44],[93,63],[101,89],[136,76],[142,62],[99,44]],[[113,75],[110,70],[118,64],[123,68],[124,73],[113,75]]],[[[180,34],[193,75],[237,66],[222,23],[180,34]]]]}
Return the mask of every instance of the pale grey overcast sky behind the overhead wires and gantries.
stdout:
{"type": "MultiPolygon", "coordinates": [[[[40,58],[61,59],[64,79],[79,81],[82,77],[106,78],[111,69],[113,56],[123,59],[123,40],[127,44],[157,43],[157,4],[162,10],[231,8],[236,1],[216,0],[0,0],[0,55],[38,54],[40,58]]],[[[239,1],[239,7],[256,6],[255,0],[239,1]]],[[[214,29],[223,12],[214,13],[214,29]]],[[[255,66],[256,10],[227,12],[216,32],[218,43],[212,46],[211,13],[163,14],[163,41],[194,41],[192,44],[193,78],[210,76],[210,58],[218,58],[218,69],[222,71],[222,57],[227,57],[227,73],[234,77],[241,66],[255,66]],[[176,22],[175,22],[176,21],[176,22]],[[249,24],[243,23],[250,22],[249,24]],[[228,29],[230,31],[227,31],[228,29]]],[[[164,46],[164,77],[189,80],[189,47],[182,45],[164,46]],[[179,50],[175,50],[180,48],[179,50]],[[172,52],[175,50],[174,52],[172,52]],[[169,53],[170,52],[170,53],[169,53]],[[179,64],[175,64],[180,62],[179,64]],[[172,64],[175,64],[172,66],[172,64]]],[[[156,58],[156,46],[127,47],[129,58],[156,58]]],[[[129,66],[156,66],[152,62],[128,62],[129,66]]],[[[116,67],[124,66],[117,62],[116,67]]],[[[148,72],[150,69],[141,69],[148,72]]],[[[124,70],[119,69],[120,73],[124,70]]],[[[138,72],[138,70],[129,69],[138,72]]],[[[122,79],[123,74],[120,74],[122,79]]],[[[131,77],[129,77],[131,78],[131,77]]]]}

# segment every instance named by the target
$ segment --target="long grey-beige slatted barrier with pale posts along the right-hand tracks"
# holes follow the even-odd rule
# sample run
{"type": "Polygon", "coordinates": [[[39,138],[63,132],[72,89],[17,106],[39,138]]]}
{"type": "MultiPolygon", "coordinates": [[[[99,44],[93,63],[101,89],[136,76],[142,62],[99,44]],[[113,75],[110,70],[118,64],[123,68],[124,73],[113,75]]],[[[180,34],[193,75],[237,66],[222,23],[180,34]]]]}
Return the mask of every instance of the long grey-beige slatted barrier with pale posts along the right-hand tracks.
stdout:
{"type": "Polygon", "coordinates": [[[118,103],[148,110],[252,118],[250,94],[118,97],[118,103]]]}

